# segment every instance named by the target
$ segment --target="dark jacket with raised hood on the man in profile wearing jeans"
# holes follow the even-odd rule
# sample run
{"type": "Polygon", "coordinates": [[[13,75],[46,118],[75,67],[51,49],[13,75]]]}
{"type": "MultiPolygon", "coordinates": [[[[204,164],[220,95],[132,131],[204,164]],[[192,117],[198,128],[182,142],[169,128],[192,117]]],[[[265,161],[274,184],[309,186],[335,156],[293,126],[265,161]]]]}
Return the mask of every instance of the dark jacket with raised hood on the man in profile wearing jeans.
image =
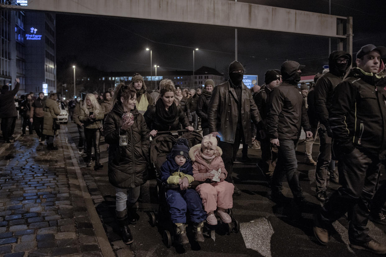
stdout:
{"type": "Polygon", "coordinates": [[[267,131],[270,138],[298,139],[300,129],[311,131],[306,104],[297,87],[296,71],[291,65],[281,67],[283,82],[269,95],[267,131]]]}

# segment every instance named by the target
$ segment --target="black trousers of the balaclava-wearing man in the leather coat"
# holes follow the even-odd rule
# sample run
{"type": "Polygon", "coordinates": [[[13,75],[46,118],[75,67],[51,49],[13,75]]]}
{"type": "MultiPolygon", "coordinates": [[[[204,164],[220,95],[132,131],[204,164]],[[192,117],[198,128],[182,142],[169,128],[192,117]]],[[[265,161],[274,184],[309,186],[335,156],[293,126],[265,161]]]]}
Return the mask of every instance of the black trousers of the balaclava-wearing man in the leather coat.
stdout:
{"type": "Polygon", "coordinates": [[[225,178],[225,181],[228,181],[230,183],[233,182],[232,178],[232,170],[233,170],[233,162],[236,159],[237,151],[239,151],[240,142],[244,143],[244,132],[242,129],[236,129],[235,132],[235,142],[232,143],[226,143],[220,141],[218,143],[218,146],[222,149],[222,160],[224,161],[225,170],[228,172],[227,177],[225,178]]]}

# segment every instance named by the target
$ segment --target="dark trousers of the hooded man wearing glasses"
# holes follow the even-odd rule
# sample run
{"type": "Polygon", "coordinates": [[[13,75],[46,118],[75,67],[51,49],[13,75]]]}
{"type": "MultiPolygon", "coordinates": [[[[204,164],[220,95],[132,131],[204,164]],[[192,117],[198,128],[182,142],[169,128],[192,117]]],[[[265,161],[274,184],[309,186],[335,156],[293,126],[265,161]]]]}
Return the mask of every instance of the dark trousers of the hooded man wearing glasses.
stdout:
{"type": "Polygon", "coordinates": [[[318,129],[318,133],[320,146],[315,170],[315,182],[316,191],[320,192],[327,189],[327,171],[328,166],[330,166],[331,163],[332,138],[327,135],[327,131],[324,126],[321,126],[318,129]]]}

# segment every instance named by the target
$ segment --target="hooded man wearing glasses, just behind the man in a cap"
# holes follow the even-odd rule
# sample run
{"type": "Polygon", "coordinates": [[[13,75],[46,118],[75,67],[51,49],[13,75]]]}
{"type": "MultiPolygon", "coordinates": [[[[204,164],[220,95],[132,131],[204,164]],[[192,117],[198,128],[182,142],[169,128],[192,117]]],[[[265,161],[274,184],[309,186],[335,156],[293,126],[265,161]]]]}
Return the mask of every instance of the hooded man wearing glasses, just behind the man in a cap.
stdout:
{"type": "MultiPolygon", "coordinates": [[[[325,202],[327,197],[327,170],[331,162],[332,132],[328,122],[328,112],[332,104],[334,88],[339,84],[351,65],[351,55],[344,51],[334,51],[328,57],[330,71],[317,80],[314,89],[315,111],[319,119],[319,156],[315,171],[317,198],[325,202]]],[[[330,181],[339,183],[338,172],[330,170],[330,181]]]]}

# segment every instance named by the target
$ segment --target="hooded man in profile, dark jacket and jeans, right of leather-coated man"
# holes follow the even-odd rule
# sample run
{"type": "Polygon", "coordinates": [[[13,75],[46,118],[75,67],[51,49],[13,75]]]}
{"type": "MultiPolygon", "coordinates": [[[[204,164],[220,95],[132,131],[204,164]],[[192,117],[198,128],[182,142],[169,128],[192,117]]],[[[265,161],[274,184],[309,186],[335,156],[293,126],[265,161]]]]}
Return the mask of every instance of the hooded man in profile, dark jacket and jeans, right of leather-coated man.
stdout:
{"type": "Polygon", "coordinates": [[[271,183],[272,200],[282,202],[286,198],[281,192],[284,175],[287,176],[296,205],[305,203],[299,183],[298,161],[295,146],[303,127],[306,137],[311,137],[306,105],[297,87],[301,69],[305,66],[295,61],[286,61],[281,65],[283,82],[275,87],[269,96],[267,131],[272,144],[278,147],[278,160],[271,183]]]}

